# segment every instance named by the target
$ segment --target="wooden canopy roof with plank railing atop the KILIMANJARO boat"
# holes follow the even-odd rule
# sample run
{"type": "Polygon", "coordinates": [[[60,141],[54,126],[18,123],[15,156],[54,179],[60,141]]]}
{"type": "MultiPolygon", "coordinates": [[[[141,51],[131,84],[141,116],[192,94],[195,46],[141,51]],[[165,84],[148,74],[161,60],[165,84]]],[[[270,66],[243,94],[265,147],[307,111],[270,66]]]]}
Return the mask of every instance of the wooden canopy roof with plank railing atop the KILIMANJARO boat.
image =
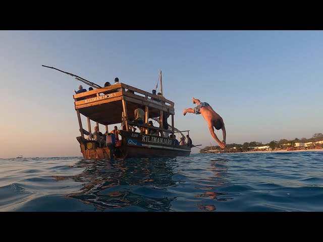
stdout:
{"type": "MultiPolygon", "coordinates": [[[[134,110],[148,107],[149,118],[159,117],[160,111],[175,114],[174,102],[124,83],[73,95],[75,110],[102,125],[122,122],[122,112],[134,119],[134,110]],[[82,99],[82,100],[80,100],[82,99]]],[[[147,110],[146,110],[147,111],[147,110]]]]}

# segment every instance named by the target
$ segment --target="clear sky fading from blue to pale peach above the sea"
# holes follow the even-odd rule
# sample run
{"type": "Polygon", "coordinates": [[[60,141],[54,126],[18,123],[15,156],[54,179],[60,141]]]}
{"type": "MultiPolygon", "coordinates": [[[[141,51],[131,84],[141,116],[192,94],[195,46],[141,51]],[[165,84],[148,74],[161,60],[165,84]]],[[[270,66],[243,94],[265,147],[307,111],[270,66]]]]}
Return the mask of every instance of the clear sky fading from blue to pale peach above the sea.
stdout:
{"type": "Polygon", "coordinates": [[[204,147],[217,142],[183,116],[192,97],[223,117],[229,144],[323,133],[322,64],[323,31],[0,31],[0,158],[82,156],[73,94],[88,86],[41,65],[148,92],[161,70],[175,127],[204,147]]]}

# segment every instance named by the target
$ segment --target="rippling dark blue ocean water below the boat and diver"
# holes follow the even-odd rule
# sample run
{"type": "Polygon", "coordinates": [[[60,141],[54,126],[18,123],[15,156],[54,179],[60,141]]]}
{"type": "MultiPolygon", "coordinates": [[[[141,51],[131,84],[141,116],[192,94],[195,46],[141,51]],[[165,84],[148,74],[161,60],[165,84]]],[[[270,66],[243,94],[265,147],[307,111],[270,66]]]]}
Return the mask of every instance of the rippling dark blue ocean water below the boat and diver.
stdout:
{"type": "Polygon", "coordinates": [[[0,211],[323,211],[323,152],[0,159],[0,211]]]}

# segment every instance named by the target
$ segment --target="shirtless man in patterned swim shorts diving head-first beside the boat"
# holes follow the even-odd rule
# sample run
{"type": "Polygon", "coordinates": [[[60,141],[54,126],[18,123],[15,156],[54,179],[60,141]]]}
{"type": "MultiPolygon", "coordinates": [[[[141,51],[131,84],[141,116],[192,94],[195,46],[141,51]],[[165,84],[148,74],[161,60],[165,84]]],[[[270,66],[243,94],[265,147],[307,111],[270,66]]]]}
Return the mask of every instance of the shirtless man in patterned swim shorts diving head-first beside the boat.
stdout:
{"type": "Polygon", "coordinates": [[[223,118],[213,110],[213,108],[207,102],[200,102],[199,99],[192,98],[193,104],[197,104],[195,108],[187,108],[184,109],[184,116],[187,112],[195,113],[195,114],[202,114],[206,123],[208,124],[208,129],[210,131],[211,136],[216,140],[221,148],[225,148],[226,145],[226,128],[224,126],[223,118]],[[217,135],[214,133],[214,127],[217,130],[222,129],[223,132],[223,141],[221,142],[217,135]]]}

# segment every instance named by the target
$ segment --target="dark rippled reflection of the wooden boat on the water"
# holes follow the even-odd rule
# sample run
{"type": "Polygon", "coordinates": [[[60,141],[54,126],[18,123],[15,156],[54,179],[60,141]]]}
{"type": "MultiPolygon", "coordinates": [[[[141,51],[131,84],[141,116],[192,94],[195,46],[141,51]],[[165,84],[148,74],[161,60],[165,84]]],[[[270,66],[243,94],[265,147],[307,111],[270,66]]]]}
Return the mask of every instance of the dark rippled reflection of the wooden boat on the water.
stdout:
{"type": "Polygon", "coordinates": [[[76,176],[55,176],[57,180],[72,178],[83,183],[78,193],[69,198],[92,204],[95,210],[169,211],[176,186],[172,166],[176,159],[81,160],[75,166],[84,167],[76,176]]]}

